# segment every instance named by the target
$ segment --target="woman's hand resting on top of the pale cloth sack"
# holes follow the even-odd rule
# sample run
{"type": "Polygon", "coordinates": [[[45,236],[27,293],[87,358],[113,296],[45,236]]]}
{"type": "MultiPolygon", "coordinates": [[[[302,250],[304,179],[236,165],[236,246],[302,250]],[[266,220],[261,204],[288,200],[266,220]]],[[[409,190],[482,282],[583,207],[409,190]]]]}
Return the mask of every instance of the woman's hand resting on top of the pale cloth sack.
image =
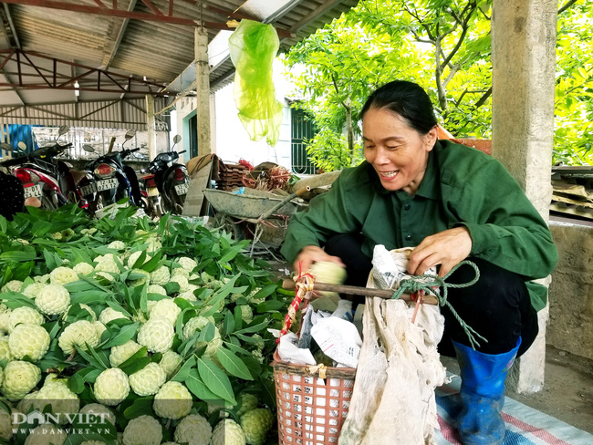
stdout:
{"type": "Polygon", "coordinates": [[[427,236],[411,251],[408,273],[424,274],[428,269],[441,264],[439,276],[448,274],[472,252],[472,236],[466,227],[455,227],[427,236]]]}

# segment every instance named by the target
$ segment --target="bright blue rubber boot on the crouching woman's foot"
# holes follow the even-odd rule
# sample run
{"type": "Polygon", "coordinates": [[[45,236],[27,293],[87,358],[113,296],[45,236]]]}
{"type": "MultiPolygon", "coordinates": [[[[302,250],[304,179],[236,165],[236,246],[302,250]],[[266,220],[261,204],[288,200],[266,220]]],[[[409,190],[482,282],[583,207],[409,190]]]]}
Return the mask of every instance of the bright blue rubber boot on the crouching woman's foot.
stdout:
{"type": "Polygon", "coordinates": [[[457,429],[464,445],[498,445],[505,439],[505,379],[520,345],[521,337],[509,352],[489,355],[453,341],[462,377],[457,429]]]}

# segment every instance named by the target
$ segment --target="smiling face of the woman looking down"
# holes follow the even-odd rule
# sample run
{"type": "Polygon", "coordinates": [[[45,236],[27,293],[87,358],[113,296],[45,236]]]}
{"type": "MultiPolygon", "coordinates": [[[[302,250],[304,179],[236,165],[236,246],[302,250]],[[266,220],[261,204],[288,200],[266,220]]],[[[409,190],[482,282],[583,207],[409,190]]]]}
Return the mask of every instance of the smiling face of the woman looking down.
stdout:
{"type": "Polygon", "coordinates": [[[371,108],[362,119],[364,156],[389,191],[418,190],[436,135],[436,127],[421,135],[389,109],[371,108]]]}

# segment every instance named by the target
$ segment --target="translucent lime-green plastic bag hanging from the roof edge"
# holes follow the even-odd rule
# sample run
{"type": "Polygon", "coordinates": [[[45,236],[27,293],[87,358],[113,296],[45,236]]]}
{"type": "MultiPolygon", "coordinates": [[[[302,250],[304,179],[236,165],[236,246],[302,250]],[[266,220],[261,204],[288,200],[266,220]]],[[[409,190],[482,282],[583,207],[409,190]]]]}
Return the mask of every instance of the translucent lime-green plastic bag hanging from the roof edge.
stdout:
{"type": "Polygon", "coordinates": [[[229,51],[236,69],[234,103],[251,140],[275,146],[280,135],[283,106],[276,100],[272,64],[280,41],[274,26],[253,20],[241,24],[229,38],[229,51]]]}

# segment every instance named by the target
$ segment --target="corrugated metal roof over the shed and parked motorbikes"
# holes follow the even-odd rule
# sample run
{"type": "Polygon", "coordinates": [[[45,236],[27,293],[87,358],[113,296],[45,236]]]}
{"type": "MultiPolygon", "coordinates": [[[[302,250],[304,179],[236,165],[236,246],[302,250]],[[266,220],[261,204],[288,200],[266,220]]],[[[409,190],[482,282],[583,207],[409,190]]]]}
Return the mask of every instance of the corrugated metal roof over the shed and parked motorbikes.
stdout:
{"type": "MultiPolygon", "coordinates": [[[[192,0],[151,0],[165,16],[169,15],[172,5],[172,17],[182,20],[203,20],[204,22],[223,26],[230,17],[248,16],[263,22],[271,22],[281,34],[281,47],[290,47],[305,36],[315,32],[342,12],[357,5],[358,0],[204,0],[201,3],[192,0]],[[224,10],[220,12],[219,10],[224,10]],[[270,11],[276,11],[269,16],[270,11]],[[287,36],[286,33],[290,33],[287,36]]],[[[103,16],[86,14],[72,10],[57,10],[47,7],[29,5],[32,0],[5,0],[0,6],[0,50],[19,48],[25,53],[35,51],[48,57],[56,57],[71,62],[73,65],[59,67],[57,79],[66,82],[68,78],[76,78],[85,72],[83,65],[104,69],[126,77],[142,78],[158,85],[170,85],[176,78],[195,79],[192,67],[194,57],[194,27],[159,21],[145,21],[121,16],[103,16]],[[123,31],[121,32],[121,30],[123,31]],[[189,69],[188,69],[189,68],[189,69]],[[70,71],[70,72],[68,72],[70,71]]],[[[39,3],[42,3],[41,0],[39,3]]],[[[64,7],[98,8],[101,2],[92,0],[72,0],[71,4],[62,2],[64,7]],[[72,5],[72,6],[68,6],[72,5]]],[[[119,8],[123,12],[131,5],[132,14],[151,14],[151,9],[142,0],[129,0],[119,8]]],[[[112,7],[110,2],[103,5],[112,7]]],[[[103,9],[103,14],[105,8],[103,9]]],[[[220,29],[208,28],[208,38],[212,41],[220,29]]],[[[4,55],[5,56],[5,55],[4,55]]],[[[21,62],[24,62],[21,60],[21,62]]],[[[35,81],[47,83],[47,79],[39,77],[39,72],[51,77],[51,60],[34,60],[33,65],[25,61],[20,67],[10,60],[3,65],[0,55],[0,84],[26,84],[35,81]],[[20,78],[19,78],[20,76],[20,78]],[[33,80],[36,77],[35,80],[33,80]]],[[[211,87],[221,88],[233,79],[234,67],[229,57],[213,67],[210,75],[211,87]]],[[[79,79],[83,87],[79,96],[75,97],[71,85],[64,89],[31,89],[0,87],[0,107],[13,105],[52,104],[71,102],[75,109],[79,104],[91,102],[98,106],[100,101],[118,98],[138,98],[123,90],[96,92],[85,88],[94,88],[98,80],[92,76],[79,79]],[[78,102],[78,105],[76,105],[78,102]]],[[[105,81],[105,76],[102,77],[105,81]]],[[[160,88],[152,86],[151,91],[160,88]]],[[[173,91],[179,89],[173,88],[173,91]]],[[[169,98],[171,101],[172,98],[169,98]]],[[[111,119],[113,117],[109,117],[111,119]]],[[[19,119],[26,119],[21,117],[19,119]]],[[[108,119],[108,120],[109,120],[108,119]]],[[[100,119],[99,119],[100,120],[100,119]]],[[[99,121],[98,120],[98,121],[99,121]]]]}

